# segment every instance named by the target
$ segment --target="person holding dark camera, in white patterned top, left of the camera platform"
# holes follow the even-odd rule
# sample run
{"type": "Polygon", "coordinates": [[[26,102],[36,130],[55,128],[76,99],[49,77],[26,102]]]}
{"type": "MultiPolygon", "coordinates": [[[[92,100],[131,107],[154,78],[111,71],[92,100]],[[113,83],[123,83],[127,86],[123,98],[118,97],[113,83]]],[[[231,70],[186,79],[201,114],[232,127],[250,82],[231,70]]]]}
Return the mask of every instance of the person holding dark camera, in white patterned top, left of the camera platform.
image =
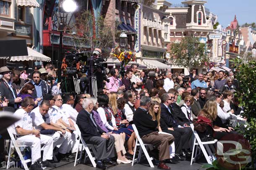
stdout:
{"type": "Polygon", "coordinates": [[[61,94],[60,83],[57,83],[56,79],[57,75],[55,71],[49,71],[48,75],[45,76],[48,91],[50,91],[51,94],[61,94]]]}

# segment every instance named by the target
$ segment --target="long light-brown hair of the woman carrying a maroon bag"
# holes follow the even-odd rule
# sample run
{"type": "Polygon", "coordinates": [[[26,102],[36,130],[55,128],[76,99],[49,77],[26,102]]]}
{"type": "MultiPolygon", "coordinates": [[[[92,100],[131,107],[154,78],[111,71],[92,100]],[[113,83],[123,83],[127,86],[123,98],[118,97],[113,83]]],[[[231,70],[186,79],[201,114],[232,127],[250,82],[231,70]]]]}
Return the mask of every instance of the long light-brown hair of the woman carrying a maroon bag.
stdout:
{"type": "Polygon", "coordinates": [[[209,99],[204,105],[204,109],[199,112],[200,116],[210,119],[212,122],[217,118],[217,102],[214,99],[209,99]]]}

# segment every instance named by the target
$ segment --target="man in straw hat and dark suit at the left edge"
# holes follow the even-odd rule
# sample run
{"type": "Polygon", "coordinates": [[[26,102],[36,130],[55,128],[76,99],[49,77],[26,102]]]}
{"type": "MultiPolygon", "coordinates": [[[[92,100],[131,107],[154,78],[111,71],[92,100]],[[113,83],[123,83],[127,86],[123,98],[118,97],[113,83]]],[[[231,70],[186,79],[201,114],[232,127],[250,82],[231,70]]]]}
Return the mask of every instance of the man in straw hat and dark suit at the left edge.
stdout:
{"type": "Polygon", "coordinates": [[[21,97],[17,97],[16,90],[11,85],[10,75],[11,71],[8,67],[3,66],[0,68],[0,74],[3,75],[2,80],[0,81],[0,93],[1,97],[5,97],[9,100],[8,107],[3,107],[3,110],[14,112],[18,108],[18,103],[22,101],[21,97]]]}

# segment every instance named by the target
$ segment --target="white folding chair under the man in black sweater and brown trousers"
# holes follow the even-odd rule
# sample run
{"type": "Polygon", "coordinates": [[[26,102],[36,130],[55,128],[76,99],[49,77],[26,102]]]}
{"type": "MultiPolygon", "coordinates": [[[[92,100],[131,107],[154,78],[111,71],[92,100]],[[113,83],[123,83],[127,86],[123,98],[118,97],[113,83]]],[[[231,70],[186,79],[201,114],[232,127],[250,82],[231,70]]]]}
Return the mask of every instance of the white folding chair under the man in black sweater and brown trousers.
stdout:
{"type": "Polygon", "coordinates": [[[132,124],[132,127],[133,127],[133,130],[134,130],[135,134],[136,134],[137,139],[136,139],[136,144],[135,144],[135,147],[134,147],[133,162],[132,162],[131,165],[133,166],[135,161],[136,162],[140,162],[140,160],[141,160],[141,153],[143,151],[145,156],[146,156],[146,159],[149,162],[150,167],[154,167],[154,165],[152,163],[153,157],[149,157],[149,153],[148,153],[147,148],[146,148],[146,147],[149,147],[149,146],[152,146],[152,145],[151,144],[144,144],[143,141],[141,140],[141,137],[138,135],[138,130],[137,130],[135,124],[132,124]],[[140,146],[140,149],[139,149],[139,152],[138,152],[138,158],[135,159],[137,146],[140,146]]]}

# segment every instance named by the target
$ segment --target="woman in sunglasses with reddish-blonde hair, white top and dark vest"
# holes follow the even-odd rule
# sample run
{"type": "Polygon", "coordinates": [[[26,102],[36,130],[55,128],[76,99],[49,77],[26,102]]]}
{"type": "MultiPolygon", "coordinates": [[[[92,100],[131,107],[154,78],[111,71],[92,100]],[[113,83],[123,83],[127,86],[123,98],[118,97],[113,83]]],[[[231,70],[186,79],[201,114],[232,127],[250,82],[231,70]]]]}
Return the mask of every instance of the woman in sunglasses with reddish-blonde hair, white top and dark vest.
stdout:
{"type": "Polygon", "coordinates": [[[182,112],[185,114],[185,117],[188,119],[188,122],[185,122],[186,124],[191,124],[193,121],[193,113],[191,110],[191,105],[194,103],[194,98],[192,95],[187,95],[184,98],[185,103],[180,106],[182,112]]]}

